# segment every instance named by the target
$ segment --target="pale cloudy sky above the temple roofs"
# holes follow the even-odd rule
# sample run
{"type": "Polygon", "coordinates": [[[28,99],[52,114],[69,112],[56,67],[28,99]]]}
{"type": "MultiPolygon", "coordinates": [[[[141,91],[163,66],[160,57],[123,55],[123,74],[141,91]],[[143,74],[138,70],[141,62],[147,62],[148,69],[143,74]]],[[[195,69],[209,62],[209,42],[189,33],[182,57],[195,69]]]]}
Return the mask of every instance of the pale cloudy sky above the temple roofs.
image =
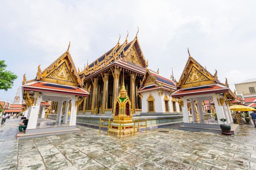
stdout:
{"type": "Polygon", "coordinates": [[[34,79],[66,51],[76,67],[125,40],[139,27],[149,68],[178,80],[191,55],[218,78],[235,83],[256,78],[255,0],[1,0],[0,60],[18,75],[0,99],[13,101],[22,75],[34,79]]]}

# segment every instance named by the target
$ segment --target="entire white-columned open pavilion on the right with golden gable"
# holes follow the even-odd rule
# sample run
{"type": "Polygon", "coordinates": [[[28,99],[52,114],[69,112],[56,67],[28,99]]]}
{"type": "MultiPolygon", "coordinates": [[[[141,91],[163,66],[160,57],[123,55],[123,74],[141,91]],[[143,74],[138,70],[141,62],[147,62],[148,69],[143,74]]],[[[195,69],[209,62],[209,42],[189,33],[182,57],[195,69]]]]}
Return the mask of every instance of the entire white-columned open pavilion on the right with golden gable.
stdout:
{"type": "Polygon", "coordinates": [[[237,126],[233,124],[229,106],[236,96],[230,90],[227,79],[225,84],[221,83],[218,80],[217,71],[212,75],[190,54],[180,80],[177,82],[177,90],[171,94],[171,97],[183,106],[184,125],[180,126],[180,129],[220,133],[219,125],[223,124],[220,119],[224,118],[227,119],[227,124],[232,125],[232,131],[235,132],[234,128],[237,126]],[[211,115],[204,111],[205,101],[214,102],[217,121],[213,118],[209,119],[211,115]]]}

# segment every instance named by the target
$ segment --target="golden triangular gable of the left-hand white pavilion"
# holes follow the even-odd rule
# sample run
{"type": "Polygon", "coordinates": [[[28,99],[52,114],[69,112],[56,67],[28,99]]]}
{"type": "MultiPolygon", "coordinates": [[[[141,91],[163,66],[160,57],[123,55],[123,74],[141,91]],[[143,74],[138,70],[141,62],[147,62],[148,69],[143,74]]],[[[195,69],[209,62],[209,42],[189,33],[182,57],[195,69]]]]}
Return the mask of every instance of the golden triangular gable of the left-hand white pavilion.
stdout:
{"type": "Polygon", "coordinates": [[[80,79],[75,68],[69,53],[69,47],[70,45],[68,46],[67,51],[55,60],[48,68],[41,71],[40,65],[38,66],[36,77],[37,81],[60,85],[83,86],[84,82],[80,79]]]}

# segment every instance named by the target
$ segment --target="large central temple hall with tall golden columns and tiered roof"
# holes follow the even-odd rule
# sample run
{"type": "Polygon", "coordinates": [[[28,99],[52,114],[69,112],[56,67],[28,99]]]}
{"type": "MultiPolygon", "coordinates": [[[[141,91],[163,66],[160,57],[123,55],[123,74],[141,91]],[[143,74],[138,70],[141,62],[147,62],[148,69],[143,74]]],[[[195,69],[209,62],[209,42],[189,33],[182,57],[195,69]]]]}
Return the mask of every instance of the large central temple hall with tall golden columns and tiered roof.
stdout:
{"type": "MultiPolygon", "coordinates": [[[[119,38],[120,39],[120,38],[119,38]]],[[[85,82],[85,88],[91,87],[89,97],[79,107],[79,114],[111,115],[115,110],[114,103],[125,77],[128,97],[131,101],[132,114],[140,113],[141,98],[137,95],[140,81],[143,79],[148,62],[141,50],[137,34],[128,42],[118,43],[105,54],[79,72],[85,82]]]]}

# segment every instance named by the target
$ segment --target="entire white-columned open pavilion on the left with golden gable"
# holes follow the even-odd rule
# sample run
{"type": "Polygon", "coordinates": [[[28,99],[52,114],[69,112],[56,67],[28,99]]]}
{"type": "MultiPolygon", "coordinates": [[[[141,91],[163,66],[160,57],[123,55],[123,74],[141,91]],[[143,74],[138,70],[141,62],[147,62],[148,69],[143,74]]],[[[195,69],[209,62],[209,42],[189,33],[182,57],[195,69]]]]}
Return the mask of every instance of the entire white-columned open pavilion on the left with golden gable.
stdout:
{"type": "Polygon", "coordinates": [[[76,128],[77,108],[89,93],[83,88],[84,81],[78,75],[69,47],[70,44],[67,51],[43,71],[39,65],[35,79],[26,81],[24,74],[21,87],[29,120],[26,132],[18,134],[17,138],[56,135],[80,130],[76,128]],[[47,119],[43,123],[38,122],[42,101],[59,103],[56,122],[47,122],[47,119]],[[64,117],[62,117],[63,113],[64,117]]]}

